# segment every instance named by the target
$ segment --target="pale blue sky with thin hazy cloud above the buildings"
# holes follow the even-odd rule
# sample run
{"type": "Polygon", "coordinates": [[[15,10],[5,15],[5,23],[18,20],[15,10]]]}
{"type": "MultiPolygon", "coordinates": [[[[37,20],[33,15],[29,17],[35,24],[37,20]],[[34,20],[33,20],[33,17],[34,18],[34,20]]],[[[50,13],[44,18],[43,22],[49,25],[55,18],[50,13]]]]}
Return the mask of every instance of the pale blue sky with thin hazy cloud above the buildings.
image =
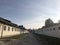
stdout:
{"type": "Polygon", "coordinates": [[[47,18],[60,19],[60,0],[0,0],[0,17],[26,28],[40,28],[47,18]]]}

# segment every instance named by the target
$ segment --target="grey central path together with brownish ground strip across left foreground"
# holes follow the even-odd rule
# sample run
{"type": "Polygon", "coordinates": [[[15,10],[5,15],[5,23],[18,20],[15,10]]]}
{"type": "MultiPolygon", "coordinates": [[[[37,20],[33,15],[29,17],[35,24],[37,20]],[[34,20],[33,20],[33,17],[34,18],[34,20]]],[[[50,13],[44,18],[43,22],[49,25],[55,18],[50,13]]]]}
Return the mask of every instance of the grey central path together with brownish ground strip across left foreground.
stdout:
{"type": "Polygon", "coordinates": [[[42,45],[42,43],[39,43],[37,39],[31,33],[29,33],[21,40],[0,42],[0,45],[42,45]]]}

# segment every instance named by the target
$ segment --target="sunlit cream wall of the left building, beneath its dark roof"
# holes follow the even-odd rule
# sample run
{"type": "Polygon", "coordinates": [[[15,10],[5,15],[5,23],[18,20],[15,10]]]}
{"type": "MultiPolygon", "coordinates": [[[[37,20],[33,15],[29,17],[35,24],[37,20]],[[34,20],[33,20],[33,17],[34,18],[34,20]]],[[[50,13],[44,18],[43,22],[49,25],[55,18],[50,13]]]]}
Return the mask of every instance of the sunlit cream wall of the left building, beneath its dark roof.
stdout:
{"type": "Polygon", "coordinates": [[[16,28],[16,30],[15,30],[15,27],[5,25],[5,24],[2,24],[2,23],[0,23],[0,25],[1,25],[1,27],[0,27],[0,37],[1,37],[1,32],[3,30],[3,26],[6,26],[6,30],[3,30],[2,37],[8,37],[8,36],[13,36],[13,35],[20,34],[20,29],[18,29],[18,28],[16,28]],[[8,27],[10,27],[10,31],[8,31],[8,27]],[[14,28],[13,31],[12,31],[12,28],[14,28]]]}

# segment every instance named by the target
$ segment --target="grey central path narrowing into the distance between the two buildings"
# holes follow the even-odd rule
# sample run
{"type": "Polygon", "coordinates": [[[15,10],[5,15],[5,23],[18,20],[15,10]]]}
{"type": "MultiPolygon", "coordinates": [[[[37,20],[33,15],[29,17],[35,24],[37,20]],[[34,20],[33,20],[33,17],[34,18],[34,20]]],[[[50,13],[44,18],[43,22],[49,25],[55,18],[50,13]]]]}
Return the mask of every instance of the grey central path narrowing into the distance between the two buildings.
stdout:
{"type": "Polygon", "coordinates": [[[39,44],[32,34],[28,34],[24,39],[22,39],[18,43],[18,45],[42,45],[42,44],[39,44]]]}

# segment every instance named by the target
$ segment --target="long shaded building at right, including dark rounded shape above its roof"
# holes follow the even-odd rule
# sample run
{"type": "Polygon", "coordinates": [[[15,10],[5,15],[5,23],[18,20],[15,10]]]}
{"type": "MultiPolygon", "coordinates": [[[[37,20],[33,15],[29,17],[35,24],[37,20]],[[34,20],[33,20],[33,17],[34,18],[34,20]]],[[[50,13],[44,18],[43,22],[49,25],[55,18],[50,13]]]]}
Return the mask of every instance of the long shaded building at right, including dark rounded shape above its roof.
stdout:
{"type": "Polygon", "coordinates": [[[35,33],[60,38],[60,23],[53,23],[51,19],[47,19],[45,26],[35,33]]]}

